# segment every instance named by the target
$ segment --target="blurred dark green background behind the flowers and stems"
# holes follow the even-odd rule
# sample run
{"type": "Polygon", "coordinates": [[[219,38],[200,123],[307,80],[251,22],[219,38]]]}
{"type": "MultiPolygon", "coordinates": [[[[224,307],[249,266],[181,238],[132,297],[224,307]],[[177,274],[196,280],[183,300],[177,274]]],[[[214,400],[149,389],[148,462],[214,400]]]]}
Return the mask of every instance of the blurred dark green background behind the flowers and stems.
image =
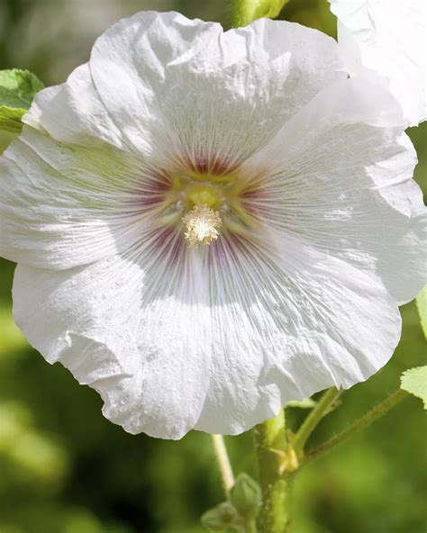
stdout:
{"type": "MultiPolygon", "coordinates": [[[[226,0],[2,0],[0,68],[29,68],[49,86],[86,61],[110,24],[142,9],[174,9],[228,25],[226,0]]],[[[326,0],[291,0],[281,18],[334,35],[326,0]]],[[[410,131],[427,169],[427,124],[410,131]]],[[[10,138],[0,138],[0,149],[10,138]]],[[[0,533],[202,533],[199,517],[223,500],[209,436],[179,442],[133,437],[104,420],[97,394],[48,365],[14,326],[14,265],[1,263],[0,533]]],[[[313,435],[321,441],[423,364],[414,304],[402,309],[391,362],[313,435]]],[[[304,414],[294,410],[293,422],[304,414]]],[[[410,398],[307,467],[295,489],[295,533],[425,533],[427,462],[422,402],[410,398]]],[[[236,472],[256,475],[250,433],[226,438],[236,472]]]]}

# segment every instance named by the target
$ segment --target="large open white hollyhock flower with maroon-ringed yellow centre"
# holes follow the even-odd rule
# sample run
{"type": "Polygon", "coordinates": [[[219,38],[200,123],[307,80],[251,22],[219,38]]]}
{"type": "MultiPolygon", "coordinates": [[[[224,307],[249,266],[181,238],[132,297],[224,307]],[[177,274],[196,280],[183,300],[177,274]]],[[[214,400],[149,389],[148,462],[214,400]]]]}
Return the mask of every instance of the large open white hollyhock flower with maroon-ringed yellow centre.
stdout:
{"type": "Polygon", "coordinates": [[[422,286],[413,146],[298,24],[115,24],[1,161],[14,316],[132,433],[239,433],[391,357],[422,286]]]}

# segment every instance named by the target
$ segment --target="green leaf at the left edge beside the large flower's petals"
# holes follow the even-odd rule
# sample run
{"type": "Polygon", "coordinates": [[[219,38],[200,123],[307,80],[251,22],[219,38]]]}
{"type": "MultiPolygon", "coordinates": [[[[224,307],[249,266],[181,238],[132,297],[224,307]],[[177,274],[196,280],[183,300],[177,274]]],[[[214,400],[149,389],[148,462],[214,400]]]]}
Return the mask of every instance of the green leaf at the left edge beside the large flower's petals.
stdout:
{"type": "Polygon", "coordinates": [[[0,70],[0,129],[19,133],[23,114],[42,88],[40,79],[28,70],[0,70]]]}

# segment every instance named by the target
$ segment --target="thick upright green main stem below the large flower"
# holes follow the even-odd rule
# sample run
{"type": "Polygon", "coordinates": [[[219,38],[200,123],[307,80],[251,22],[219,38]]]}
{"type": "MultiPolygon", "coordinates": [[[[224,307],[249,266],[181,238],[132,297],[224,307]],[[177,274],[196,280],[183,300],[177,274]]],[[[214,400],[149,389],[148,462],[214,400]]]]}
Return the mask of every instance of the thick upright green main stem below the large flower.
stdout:
{"type": "Polygon", "coordinates": [[[290,499],[294,474],[280,474],[277,454],[286,451],[285,411],[254,429],[259,461],[262,505],[259,510],[259,533],[286,533],[290,523],[290,499]]]}

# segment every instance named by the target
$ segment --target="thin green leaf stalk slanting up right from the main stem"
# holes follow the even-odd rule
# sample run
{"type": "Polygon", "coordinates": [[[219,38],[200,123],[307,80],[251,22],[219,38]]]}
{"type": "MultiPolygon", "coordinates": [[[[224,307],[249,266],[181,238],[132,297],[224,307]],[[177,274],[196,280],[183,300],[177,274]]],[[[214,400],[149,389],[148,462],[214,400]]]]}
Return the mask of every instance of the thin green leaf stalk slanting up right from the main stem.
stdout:
{"type": "Polygon", "coordinates": [[[316,447],[312,451],[308,452],[305,457],[304,464],[312,461],[318,456],[323,455],[323,453],[329,451],[332,449],[332,447],[336,447],[342,442],[345,442],[362,429],[368,428],[372,422],[385,415],[386,412],[390,411],[390,409],[393,409],[397,403],[404,400],[404,398],[407,396],[409,396],[409,393],[406,393],[406,391],[403,391],[402,389],[398,389],[395,391],[395,393],[390,394],[388,398],[384,400],[384,402],[379,403],[376,407],[368,411],[359,420],[351,424],[347,429],[344,429],[341,431],[341,433],[330,438],[321,446],[316,447]]]}

